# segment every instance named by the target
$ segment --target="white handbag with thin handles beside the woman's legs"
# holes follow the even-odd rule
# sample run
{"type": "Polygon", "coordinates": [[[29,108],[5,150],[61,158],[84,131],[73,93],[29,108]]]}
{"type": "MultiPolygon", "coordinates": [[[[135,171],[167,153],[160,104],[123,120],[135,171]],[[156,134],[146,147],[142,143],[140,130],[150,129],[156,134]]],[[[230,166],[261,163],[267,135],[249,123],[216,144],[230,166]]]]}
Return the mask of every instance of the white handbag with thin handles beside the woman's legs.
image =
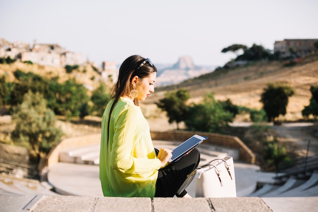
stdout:
{"type": "Polygon", "coordinates": [[[180,194],[196,178],[196,197],[236,197],[232,157],[214,159],[191,172],[178,190],[180,194]]]}

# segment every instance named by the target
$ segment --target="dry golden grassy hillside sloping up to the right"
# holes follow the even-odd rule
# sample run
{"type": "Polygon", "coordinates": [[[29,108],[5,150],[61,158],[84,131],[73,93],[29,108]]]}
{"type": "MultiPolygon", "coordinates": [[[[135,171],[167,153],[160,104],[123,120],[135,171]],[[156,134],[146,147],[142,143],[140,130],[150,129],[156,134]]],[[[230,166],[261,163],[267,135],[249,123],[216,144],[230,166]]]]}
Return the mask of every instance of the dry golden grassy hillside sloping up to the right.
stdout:
{"type": "Polygon", "coordinates": [[[281,120],[301,119],[301,110],[309,104],[310,85],[318,85],[318,56],[311,56],[294,66],[281,62],[258,62],[233,69],[215,72],[187,80],[181,84],[155,88],[145,104],[152,104],[164,97],[168,90],[189,90],[190,102],[198,102],[206,93],[213,93],[217,100],[230,99],[234,104],[249,108],[262,108],[263,89],[269,82],[284,82],[295,89],[290,98],[287,114],[281,120]]]}

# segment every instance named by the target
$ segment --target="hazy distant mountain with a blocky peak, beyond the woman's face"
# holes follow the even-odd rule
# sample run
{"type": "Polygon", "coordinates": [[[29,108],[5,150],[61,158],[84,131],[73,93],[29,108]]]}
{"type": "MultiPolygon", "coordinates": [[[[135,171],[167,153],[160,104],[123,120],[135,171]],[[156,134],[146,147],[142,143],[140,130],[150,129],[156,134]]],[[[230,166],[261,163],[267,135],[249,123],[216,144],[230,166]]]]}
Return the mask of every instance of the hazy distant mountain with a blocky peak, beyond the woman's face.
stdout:
{"type": "Polygon", "coordinates": [[[216,67],[196,66],[190,56],[181,56],[178,62],[170,67],[157,66],[156,86],[180,83],[184,80],[213,72],[216,67]]]}

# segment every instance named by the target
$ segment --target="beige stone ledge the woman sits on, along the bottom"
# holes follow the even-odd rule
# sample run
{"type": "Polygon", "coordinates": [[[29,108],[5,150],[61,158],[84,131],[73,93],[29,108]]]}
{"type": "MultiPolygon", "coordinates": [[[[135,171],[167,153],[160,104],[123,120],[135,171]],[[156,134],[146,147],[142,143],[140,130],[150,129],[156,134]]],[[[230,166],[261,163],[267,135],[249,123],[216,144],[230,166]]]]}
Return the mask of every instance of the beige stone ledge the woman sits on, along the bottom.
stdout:
{"type": "Polygon", "coordinates": [[[258,197],[236,198],[123,198],[123,197],[84,197],[84,196],[20,196],[1,195],[0,211],[30,212],[248,212],[272,211],[258,197]],[[18,202],[18,204],[17,204],[18,202]]]}

